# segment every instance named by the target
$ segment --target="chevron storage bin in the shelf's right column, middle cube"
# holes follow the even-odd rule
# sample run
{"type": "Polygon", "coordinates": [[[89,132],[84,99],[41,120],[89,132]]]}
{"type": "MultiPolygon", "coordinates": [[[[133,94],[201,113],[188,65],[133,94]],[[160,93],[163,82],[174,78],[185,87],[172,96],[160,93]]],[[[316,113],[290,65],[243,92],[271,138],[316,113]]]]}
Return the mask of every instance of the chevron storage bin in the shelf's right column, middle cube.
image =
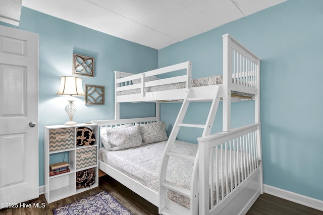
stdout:
{"type": "Polygon", "coordinates": [[[96,165],[96,146],[76,149],[76,169],[96,165]]]}

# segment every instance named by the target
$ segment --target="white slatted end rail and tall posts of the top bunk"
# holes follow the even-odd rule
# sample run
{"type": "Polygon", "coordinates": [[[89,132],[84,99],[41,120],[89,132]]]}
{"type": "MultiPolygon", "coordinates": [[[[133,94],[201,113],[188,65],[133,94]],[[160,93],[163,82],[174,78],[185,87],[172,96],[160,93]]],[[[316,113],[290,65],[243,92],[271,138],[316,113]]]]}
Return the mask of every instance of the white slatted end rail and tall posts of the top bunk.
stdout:
{"type": "Polygon", "coordinates": [[[230,131],[231,92],[254,95],[255,123],[260,122],[260,58],[231,37],[223,36],[223,131],[230,131]]]}

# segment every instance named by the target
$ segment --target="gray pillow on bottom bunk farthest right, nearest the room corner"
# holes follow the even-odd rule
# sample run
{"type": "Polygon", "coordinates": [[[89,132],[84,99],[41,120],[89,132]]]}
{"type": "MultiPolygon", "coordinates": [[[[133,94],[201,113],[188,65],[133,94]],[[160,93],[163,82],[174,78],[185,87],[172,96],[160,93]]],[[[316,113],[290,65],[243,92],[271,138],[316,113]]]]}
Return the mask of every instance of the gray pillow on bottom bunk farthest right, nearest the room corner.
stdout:
{"type": "Polygon", "coordinates": [[[140,133],[145,144],[168,140],[166,124],[163,121],[140,124],[140,133]]]}

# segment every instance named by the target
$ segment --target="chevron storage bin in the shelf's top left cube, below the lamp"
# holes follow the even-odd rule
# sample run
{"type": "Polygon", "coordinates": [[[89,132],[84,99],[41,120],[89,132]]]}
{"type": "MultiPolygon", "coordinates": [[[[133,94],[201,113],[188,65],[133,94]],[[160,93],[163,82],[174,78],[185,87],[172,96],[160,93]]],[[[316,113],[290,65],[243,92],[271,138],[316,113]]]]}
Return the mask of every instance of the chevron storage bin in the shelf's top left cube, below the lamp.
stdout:
{"type": "Polygon", "coordinates": [[[49,151],[69,148],[74,148],[74,128],[49,130],[49,151]]]}

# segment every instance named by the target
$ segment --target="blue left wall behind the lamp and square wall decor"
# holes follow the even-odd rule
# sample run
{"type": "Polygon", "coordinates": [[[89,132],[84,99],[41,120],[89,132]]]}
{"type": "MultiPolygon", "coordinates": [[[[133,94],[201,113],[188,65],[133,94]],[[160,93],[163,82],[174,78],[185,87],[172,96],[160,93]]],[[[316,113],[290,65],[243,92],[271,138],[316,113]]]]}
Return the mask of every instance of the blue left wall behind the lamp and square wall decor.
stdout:
{"type": "MultiPolygon", "coordinates": [[[[62,125],[67,97],[57,96],[61,76],[72,75],[73,53],[95,58],[95,77],[79,76],[85,84],[105,87],[104,105],[85,105],[75,97],[78,123],[114,119],[114,71],[144,72],[157,68],[158,50],[94,31],[23,7],[19,27],[39,34],[39,185],[43,185],[43,133],[45,125],[62,125]]],[[[131,32],[130,32],[131,33],[131,32]]],[[[155,116],[154,104],[121,105],[121,118],[155,116]],[[142,111],[142,112],[141,112],[142,111]]]]}

